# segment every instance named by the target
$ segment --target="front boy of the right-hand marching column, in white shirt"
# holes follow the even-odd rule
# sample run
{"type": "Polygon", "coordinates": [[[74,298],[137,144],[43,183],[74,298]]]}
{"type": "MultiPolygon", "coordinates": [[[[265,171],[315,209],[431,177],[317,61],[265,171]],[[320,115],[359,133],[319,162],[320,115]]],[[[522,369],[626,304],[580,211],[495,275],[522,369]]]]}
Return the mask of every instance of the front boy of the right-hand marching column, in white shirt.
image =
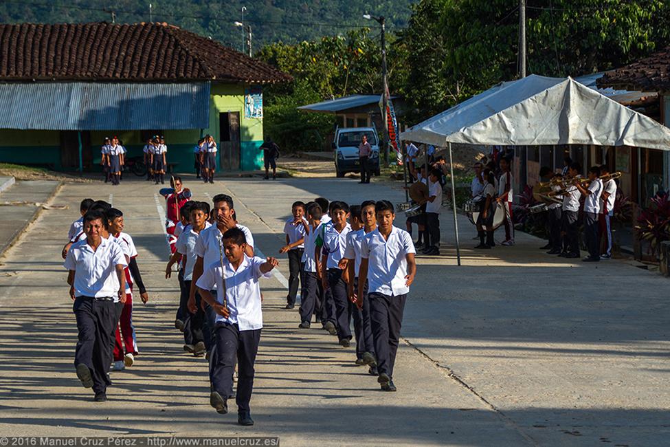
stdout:
{"type": "Polygon", "coordinates": [[[383,391],[396,391],[393,365],[398,350],[403,310],[410,285],[416,275],[414,243],[405,230],[393,226],[393,204],[381,200],[375,204],[377,230],[361,241],[361,267],[358,273],[356,303],[370,300],[370,325],[375,339],[377,369],[383,391]],[[368,281],[368,296],[365,284],[368,281]]]}

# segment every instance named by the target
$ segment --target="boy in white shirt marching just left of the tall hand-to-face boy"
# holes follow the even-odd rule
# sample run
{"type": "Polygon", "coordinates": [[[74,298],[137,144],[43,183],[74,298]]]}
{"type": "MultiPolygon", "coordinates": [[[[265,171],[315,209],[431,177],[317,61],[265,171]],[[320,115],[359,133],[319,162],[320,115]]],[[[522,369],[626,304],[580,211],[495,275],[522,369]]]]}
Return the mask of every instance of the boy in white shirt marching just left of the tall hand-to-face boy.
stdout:
{"type": "MultiPolygon", "coordinates": [[[[193,353],[194,356],[203,356],[205,351],[212,347],[210,331],[203,331],[205,321],[205,311],[201,307],[201,297],[196,292],[195,301],[197,311],[191,314],[188,310],[188,296],[191,290],[191,281],[193,279],[193,266],[197,261],[195,246],[200,233],[210,227],[207,221],[209,215],[209,206],[203,201],[187,202],[190,224],[184,228],[179,239],[177,239],[177,252],[172,255],[165,269],[166,279],[172,275],[172,265],[181,257],[182,268],[179,270],[181,276],[180,287],[181,296],[179,307],[181,308],[181,322],[183,327],[183,350],[193,353]]],[[[182,209],[186,207],[184,205],[182,209]]]]}

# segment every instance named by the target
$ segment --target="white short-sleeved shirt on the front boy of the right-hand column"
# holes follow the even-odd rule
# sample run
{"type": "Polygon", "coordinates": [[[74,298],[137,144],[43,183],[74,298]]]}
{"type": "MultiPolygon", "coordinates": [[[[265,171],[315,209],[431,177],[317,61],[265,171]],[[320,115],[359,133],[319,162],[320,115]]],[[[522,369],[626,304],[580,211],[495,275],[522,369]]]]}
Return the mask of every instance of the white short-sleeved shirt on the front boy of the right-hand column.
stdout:
{"type": "Polygon", "coordinates": [[[361,258],[368,259],[368,293],[397,296],[410,292],[405,285],[407,254],[416,253],[410,233],[394,226],[388,239],[379,228],[361,239],[361,258]]]}

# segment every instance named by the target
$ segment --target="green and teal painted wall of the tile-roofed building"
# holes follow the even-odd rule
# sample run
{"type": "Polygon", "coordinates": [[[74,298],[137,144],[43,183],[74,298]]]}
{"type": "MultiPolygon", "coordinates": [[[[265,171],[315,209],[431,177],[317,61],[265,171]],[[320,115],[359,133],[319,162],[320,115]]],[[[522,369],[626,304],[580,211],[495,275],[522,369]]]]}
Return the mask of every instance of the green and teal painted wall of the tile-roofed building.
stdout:
{"type": "MultiPolygon", "coordinates": [[[[258,148],[263,143],[263,120],[245,118],[245,85],[212,85],[210,94],[210,122],[207,129],[166,130],[168,163],[175,163],[175,172],[194,173],[193,148],[201,135],[210,134],[220,141],[219,113],[240,113],[240,168],[253,171],[263,166],[263,154],[258,148]]],[[[87,171],[100,171],[100,146],[105,137],[118,136],[128,150],[129,157],[141,156],[146,142],[141,131],[91,131],[93,164],[87,171]]],[[[60,162],[60,131],[0,129],[0,162],[42,164],[62,171],[60,162]]],[[[221,171],[217,165],[217,171],[221,171]]]]}

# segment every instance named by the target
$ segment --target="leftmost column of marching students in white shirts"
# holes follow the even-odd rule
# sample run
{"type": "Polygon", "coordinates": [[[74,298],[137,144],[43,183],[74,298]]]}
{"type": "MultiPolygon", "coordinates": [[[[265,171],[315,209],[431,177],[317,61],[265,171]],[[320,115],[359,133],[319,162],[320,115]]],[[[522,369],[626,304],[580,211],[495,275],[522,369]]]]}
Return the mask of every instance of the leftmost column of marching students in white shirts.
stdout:
{"type": "Polygon", "coordinates": [[[139,353],[133,286],[137,285],[142,303],[149,297],[133,238],[124,232],[123,212],[93,199],[82,200],[80,212],[61,253],[79,332],[74,364],[82,384],[93,389],[94,400],[104,402],[110,367],[131,367],[139,353]]]}

